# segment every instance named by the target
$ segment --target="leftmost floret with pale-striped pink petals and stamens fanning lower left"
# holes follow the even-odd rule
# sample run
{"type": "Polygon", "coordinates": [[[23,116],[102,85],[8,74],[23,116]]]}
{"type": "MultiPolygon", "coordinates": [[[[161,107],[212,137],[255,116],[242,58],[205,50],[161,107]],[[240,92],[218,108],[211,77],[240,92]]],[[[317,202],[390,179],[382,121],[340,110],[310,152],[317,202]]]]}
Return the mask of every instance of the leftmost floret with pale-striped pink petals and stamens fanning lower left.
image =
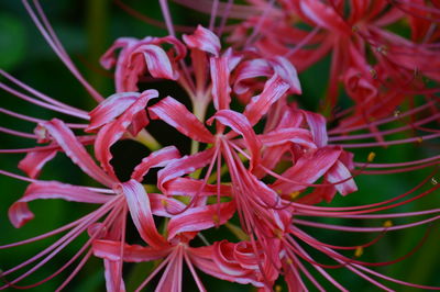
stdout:
{"type": "MultiPolygon", "coordinates": [[[[151,92],[148,92],[151,93],[151,92]]],[[[154,94],[154,92],[153,92],[154,94]]],[[[147,94],[145,94],[147,96],[147,94]]],[[[124,132],[125,128],[130,125],[130,111],[125,111],[120,119],[108,123],[102,127],[103,131],[107,130],[106,133],[111,135],[111,137],[117,137],[119,133],[124,132]],[[125,128],[121,128],[118,125],[123,124],[125,128]],[[107,127],[108,126],[108,127],[107,127]],[[107,128],[106,128],[107,127],[107,128]],[[120,132],[119,132],[120,131],[120,132]]],[[[57,145],[64,150],[64,153],[70,157],[70,159],[78,165],[84,172],[89,175],[92,179],[106,186],[109,189],[98,189],[98,188],[86,188],[86,187],[77,187],[67,183],[62,183],[57,181],[37,181],[30,180],[32,184],[26,189],[25,194],[16,201],[9,211],[9,216],[11,222],[15,227],[21,227],[28,221],[33,218],[33,213],[28,209],[28,203],[37,200],[37,199],[64,199],[67,201],[82,202],[82,203],[94,203],[101,204],[99,209],[91,212],[90,214],[73,222],[66,226],[63,226],[54,232],[50,232],[47,234],[37,236],[35,238],[31,238],[21,243],[15,243],[11,245],[2,246],[1,248],[10,248],[13,246],[32,243],[34,240],[38,240],[54,234],[72,229],[61,239],[58,239],[55,244],[40,252],[37,256],[24,261],[23,263],[7,270],[2,273],[3,277],[14,272],[15,270],[23,268],[38,259],[42,259],[35,267],[30,269],[28,272],[18,277],[16,279],[9,281],[6,287],[16,287],[15,283],[34,272],[45,262],[51,260],[54,256],[59,252],[62,248],[73,242],[76,237],[78,237],[82,232],[88,231],[90,235],[90,239],[81,247],[81,249],[66,262],[56,273],[51,277],[42,280],[34,285],[41,284],[54,276],[62,272],[65,268],[73,263],[73,261],[78,258],[81,254],[84,254],[87,248],[90,246],[92,240],[97,238],[106,238],[111,240],[123,240],[125,236],[125,217],[127,212],[132,213],[133,221],[139,217],[142,217],[144,221],[148,222],[148,225],[142,226],[142,233],[140,236],[148,243],[153,247],[166,245],[164,239],[157,239],[160,237],[158,233],[155,228],[155,223],[153,221],[153,213],[156,211],[152,211],[152,205],[157,206],[161,205],[161,202],[168,202],[167,198],[162,198],[158,194],[147,195],[142,184],[140,184],[136,180],[132,179],[129,182],[121,183],[114,176],[114,172],[106,159],[106,155],[101,155],[105,158],[101,160],[102,168],[99,168],[92,158],[88,155],[84,146],[74,136],[73,132],[68,130],[68,127],[59,120],[54,120],[51,122],[45,122],[42,126],[47,131],[50,138],[55,141],[57,145]],[[134,191],[132,189],[135,189],[134,191]],[[112,195],[111,195],[112,194],[112,195]],[[141,209],[139,209],[139,204],[141,203],[141,209]],[[99,222],[101,217],[107,217],[99,222]],[[44,258],[43,258],[44,257],[44,258]]],[[[99,138],[102,137],[98,133],[98,139],[96,145],[105,145],[105,148],[98,150],[98,153],[107,153],[107,149],[110,147],[106,143],[112,143],[112,139],[99,138]],[[101,142],[100,141],[105,141],[101,142]]],[[[166,147],[156,153],[153,153],[148,157],[145,157],[142,162],[135,168],[133,172],[133,178],[138,180],[142,180],[143,176],[152,168],[164,166],[166,161],[178,158],[179,154],[175,147],[166,147]]],[[[173,202],[168,202],[170,206],[173,206],[173,202]]],[[[158,211],[160,212],[160,211],[158,211]]],[[[79,271],[79,269],[85,265],[87,259],[90,257],[91,252],[87,251],[84,259],[80,261],[78,267],[75,269],[75,272],[69,277],[63,284],[67,284],[72,278],[79,271]]],[[[106,267],[111,269],[111,273],[107,273],[106,278],[108,279],[108,289],[113,291],[116,287],[122,285],[123,283],[118,277],[118,272],[121,273],[121,262],[109,262],[106,261],[106,267]]],[[[34,287],[32,285],[32,287],[34,287]]],[[[59,288],[61,289],[61,288],[59,288]]]]}

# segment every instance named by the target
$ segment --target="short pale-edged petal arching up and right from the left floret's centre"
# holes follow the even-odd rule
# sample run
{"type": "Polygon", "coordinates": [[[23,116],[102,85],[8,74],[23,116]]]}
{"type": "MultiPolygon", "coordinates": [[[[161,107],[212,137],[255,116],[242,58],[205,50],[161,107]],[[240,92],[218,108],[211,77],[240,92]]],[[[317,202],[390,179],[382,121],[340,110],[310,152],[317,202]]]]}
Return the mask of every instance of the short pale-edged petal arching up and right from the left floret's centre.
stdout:
{"type": "Polygon", "coordinates": [[[180,158],[180,154],[175,146],[168,146],[152,153],[139,164],[131,175],[131,178],[141,181],[148,172],[150,168],[164,167],[173,159],[180,158]]]}

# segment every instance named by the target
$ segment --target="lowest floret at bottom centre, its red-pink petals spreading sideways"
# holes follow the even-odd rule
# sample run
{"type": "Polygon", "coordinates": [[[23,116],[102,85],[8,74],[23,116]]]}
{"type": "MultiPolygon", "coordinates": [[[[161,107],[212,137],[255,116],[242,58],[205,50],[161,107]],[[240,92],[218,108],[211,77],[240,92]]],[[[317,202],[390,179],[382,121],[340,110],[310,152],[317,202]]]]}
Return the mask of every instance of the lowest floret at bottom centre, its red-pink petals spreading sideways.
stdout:
{"type": "MultiPolygon", "coordinates": [[[[133,181],[129,182],[128,186],[122,188],[135,189],[133,181]],[[129,186],[131,184],[131,186],[129,186]]],[[[130,192],[130,190],[125,190],[130,192]]],[[[165,196],[164,196],[165,198],[165,196]]],[[[128,262],[142,262],[152,261],[157,259],[164,259],[162,263],[142,282],[136,291],[142,290],[162,269],[164,269],[163,276],[156,287],[156,291],[182,291],[182,271],[183,262],[185,261],[191,271],[197,287],[200,291],[206,291],[199,277],[197,276],[194,267],[199,268],[206,273],[209,273],[219,279],[234,281],[239,283],[253,282],[257,285],[262,285],[256,279],[254,272],[250,269],[242,269],[242,274],[231,273],[216,267],[213,259],[213,247],[190,247],[189,242],[202,229],[213,227],[216,224],[224,224],[234,213],[234,204],[232,202],[210,204],[204,206],[197,206],[188,209],[186,212],[179,215],[170,215],[168,212],[177,212],[179,209],[184,209],[185,204],[173,199],[163,201],[161,215],[170,217],[169,224],[167,225],[168,244],[158,246],[139,246],[128,245],[121,246],[120,242],[111,240],[95,240],[94,242],[94,254],[97,257],[101,257],[110,261],[128,261],[128,262]],[[170,201],[172,200],[172,201],[170,201]],[[166,204],[165,204],[166,202],[166,204]],[[173,210],[169,209],[169,203],[174,202],[173,210]],[[215,210],[219,210],[220,218],[213,216],[215,210]],[[123,254],[121,254],[123,249],[123,254]]],[[[142,207],[141,202],[135,202],[142,207]]],[[[129,202],[129,205],[131,203],[129,202]]],[[[141,211],[139,207],[139,211],[141,211]]],[[[134,205],[133,205],[134,211],[134,205]]],[[[160,210],[157,210],[157,214],[160,210]]],[[[143,233],[143,228],[148,222],[140,216],[141,214],[132,213],[134,224],[140,234],[143,233]]],[[[156,235],[158,238],[163,238],[162,235],[156,235]]],[[[157,238],[157,239],[158,239],[157,238]]],[[[163,240],[163,239],[161,239],[163,240]]]]}

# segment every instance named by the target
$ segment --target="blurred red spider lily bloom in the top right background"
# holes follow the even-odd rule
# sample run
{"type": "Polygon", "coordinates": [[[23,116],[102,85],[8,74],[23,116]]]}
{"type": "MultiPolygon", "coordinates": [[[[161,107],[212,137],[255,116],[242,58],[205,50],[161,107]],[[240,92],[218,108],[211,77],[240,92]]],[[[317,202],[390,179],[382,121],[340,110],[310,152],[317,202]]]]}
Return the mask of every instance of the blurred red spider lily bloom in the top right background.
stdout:
{"type": "Polygon", "coordinates": [[[415,76],[439,81],[435,24],[440,15],[438,3],[431,7],[425,1],[277,2],[251,2],[256,8],[249,5],[253,15],[231,8],[231,18],[245,21],[233,30],[230,41],[245,47],[254,45],[264,56],[289,58],[300,71],[331,54],[327,110],[336,106],[338,85],[342,81],[355,102],[352,116],[356,122],[351,119],[346,122],[350,125],[387,116],[408,96],[422,93],[426,86],[415,76]],[[411,40],[389,31],[388,26],[400,21],[409,21],[411,40]]]}

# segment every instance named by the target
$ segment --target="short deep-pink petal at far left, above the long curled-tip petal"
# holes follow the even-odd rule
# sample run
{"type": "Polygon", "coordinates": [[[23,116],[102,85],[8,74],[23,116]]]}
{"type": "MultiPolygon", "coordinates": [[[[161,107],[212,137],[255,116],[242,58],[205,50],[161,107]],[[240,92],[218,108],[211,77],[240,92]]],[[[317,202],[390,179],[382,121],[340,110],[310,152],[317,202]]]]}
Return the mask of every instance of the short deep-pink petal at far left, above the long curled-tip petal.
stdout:
{"type": "Polygon", "coordinates": [[[37,178],[44,165],[55,157],[57,149],[30,151],[20,160],[19,169],[30,178],[37,178]]]}

